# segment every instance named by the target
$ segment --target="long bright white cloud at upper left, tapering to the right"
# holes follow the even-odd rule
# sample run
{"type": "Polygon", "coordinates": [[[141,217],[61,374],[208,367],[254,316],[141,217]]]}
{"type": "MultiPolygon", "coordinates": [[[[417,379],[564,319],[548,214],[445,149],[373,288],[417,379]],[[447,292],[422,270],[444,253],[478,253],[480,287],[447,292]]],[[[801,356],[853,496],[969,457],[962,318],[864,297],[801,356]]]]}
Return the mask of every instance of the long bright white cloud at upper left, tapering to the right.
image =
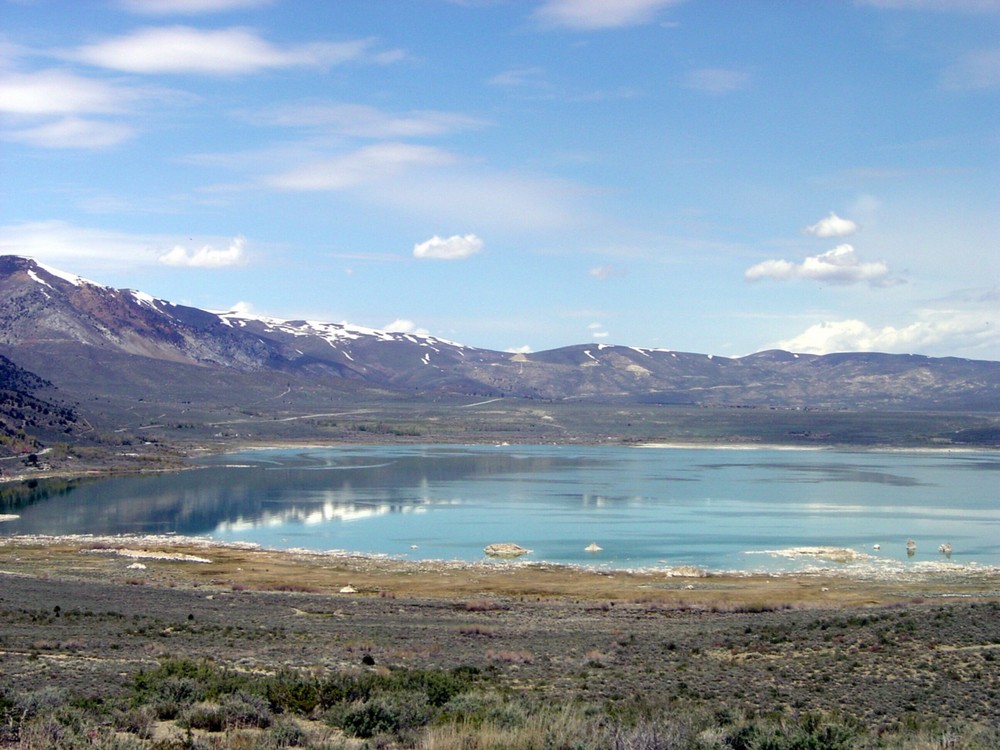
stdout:
{"type": "MultiPolygon", "coordinates": [[[[277,47],[247,29],[169,26],[80,47],[68,59],[128,73],[235,75],[269,68],[336,65],[369,55],[370,39],[277,47]]],[[[377,57],[377,56],[376,56],[377,57]]]]}

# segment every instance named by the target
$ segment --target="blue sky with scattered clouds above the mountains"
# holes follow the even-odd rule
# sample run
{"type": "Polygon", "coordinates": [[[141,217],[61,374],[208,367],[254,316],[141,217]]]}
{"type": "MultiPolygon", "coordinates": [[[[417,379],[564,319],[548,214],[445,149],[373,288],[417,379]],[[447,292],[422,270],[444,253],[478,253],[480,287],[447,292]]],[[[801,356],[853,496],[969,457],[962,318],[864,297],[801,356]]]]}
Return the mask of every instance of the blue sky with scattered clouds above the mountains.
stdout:
{"type": "Polygon", "coordinates": [[[0,252],[214,310],[1000,359],[1000,0],[0,0],[0,252]]]}

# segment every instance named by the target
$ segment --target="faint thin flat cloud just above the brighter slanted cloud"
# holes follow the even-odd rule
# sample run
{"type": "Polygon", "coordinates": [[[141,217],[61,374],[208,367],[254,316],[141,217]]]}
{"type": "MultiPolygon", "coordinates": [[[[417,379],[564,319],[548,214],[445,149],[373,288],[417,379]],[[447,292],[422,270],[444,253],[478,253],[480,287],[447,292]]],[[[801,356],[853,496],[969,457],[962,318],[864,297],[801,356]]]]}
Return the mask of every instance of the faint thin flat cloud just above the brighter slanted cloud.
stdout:
{"type": "Polygon", "coordinates": [[[322,128],[356,138],[426,138],[482,127],[485,123],[453,112],[433,110],[394,115],[362,104],[283,107],[255,113],[253,121],[267,125],[322,128]]]}

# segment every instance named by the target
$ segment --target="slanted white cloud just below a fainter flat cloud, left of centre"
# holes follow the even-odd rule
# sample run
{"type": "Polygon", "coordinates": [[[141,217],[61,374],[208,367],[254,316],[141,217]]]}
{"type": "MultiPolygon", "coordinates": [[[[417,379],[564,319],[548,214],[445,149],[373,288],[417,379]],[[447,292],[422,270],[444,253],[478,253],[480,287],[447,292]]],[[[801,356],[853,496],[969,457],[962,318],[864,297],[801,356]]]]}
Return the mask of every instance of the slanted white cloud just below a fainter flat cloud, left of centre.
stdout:
{"type": "Polygon", "coordinates": [[[454,157],[441,149],[408,143],[379,143],[332,159],[273,175],[267,182],[283,190],[343,190],[395,177],[418,166],[448,164],[454,157]]]}

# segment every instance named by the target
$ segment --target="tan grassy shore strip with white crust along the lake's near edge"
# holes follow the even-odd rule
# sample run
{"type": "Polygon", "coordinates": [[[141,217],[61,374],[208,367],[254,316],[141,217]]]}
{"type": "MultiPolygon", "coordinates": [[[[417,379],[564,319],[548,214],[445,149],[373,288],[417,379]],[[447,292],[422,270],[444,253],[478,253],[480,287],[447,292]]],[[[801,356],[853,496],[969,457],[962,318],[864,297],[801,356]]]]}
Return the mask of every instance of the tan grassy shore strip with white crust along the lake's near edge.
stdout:
{"type": "Polygon", "coordinates": [[[324,596],[648,602],[682,608],[858,607],[1000,601],[1000,568],[884,575],[828,567],[791,572],[603,569],[540,561],[401,560],[341,551],[156,535],[0,537],[0,577],[103,580],[122,586],[298,591],[324,596]]]}

